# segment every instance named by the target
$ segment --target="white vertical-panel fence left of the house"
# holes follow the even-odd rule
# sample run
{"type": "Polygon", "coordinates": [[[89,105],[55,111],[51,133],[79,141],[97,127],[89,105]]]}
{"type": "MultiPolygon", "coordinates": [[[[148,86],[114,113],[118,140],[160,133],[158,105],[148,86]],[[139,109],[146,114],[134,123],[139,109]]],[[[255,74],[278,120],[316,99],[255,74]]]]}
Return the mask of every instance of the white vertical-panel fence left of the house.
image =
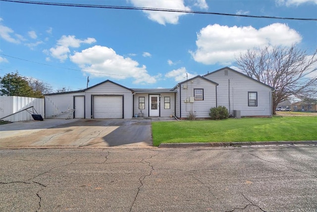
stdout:
{"type": "MultiPolygon", "coordinates": [[[[0,118],[16,113],[23,109],[33,106],[38,114],[44,118],[44,99],[21,97],[21,96],[0,96],[0,118]]],[[[30,108],[30,110],[32,110],[30,108]]],[[[27,111],[6,117],[4,121],[18,122],[33,120],[32,115],[27,111]]]]}

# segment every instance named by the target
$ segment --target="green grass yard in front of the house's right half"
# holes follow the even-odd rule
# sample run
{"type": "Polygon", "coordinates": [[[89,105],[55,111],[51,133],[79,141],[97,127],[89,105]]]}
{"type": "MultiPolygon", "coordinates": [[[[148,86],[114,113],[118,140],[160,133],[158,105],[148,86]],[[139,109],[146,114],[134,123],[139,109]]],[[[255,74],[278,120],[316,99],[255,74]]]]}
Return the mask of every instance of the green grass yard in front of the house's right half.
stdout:
{"type": "Polygon", "coordinates": [[[317,116],[153,122],[153,144],[225,141],[316,141],[317,116]]]}

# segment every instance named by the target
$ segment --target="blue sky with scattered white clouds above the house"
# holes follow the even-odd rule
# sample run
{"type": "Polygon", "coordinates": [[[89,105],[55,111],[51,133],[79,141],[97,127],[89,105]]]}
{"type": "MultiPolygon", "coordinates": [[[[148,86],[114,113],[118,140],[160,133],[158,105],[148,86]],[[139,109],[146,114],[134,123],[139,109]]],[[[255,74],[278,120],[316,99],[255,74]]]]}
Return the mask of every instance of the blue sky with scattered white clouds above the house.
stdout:
{"type": "MultiPolygon", "coordinates": [[[[317,18],[317,0],[46,1],[317,18]]],[[[0,76],[18,70],[53,89],[86,88],[87,76],[89,86],[171,88],[234,67],[248,48],[293,43],[312,54],[317,22],[0,1],[0,76]]]]}

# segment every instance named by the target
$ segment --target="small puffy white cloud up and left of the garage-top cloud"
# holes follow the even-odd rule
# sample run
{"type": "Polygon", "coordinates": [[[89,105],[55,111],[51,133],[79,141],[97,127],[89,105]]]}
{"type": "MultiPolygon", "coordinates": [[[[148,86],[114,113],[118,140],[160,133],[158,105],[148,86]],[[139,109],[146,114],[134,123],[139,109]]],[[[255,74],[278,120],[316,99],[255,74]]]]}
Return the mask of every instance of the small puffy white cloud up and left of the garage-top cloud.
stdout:
{"type": "Polygon", "coordinates": [[[85,40],[77,39],[74,35],[63,35],[58,41],[56,46],[50,49],[51,56],[53,58],[59,59],[61,62],[68,58],[68,54],[70,53],[69,47],[78,48],[82,43],[84,44],[92,44],[95,43],[95,38],[87,38],[85,40]]]}

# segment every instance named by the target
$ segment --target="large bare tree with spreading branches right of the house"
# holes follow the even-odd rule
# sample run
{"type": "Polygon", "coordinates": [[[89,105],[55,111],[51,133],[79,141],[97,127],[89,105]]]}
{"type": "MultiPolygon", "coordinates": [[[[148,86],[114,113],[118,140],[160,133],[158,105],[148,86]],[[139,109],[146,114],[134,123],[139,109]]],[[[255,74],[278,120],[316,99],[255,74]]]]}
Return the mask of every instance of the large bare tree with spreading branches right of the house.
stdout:
{"type": "Polygon", "coordinates": [[[274,113],[282,101],[317,98],[317,49],[313,55],[308,55],[296,45],[254,48],[240,54],[236,60],[240,71],[274,87],[274,113]]]}

